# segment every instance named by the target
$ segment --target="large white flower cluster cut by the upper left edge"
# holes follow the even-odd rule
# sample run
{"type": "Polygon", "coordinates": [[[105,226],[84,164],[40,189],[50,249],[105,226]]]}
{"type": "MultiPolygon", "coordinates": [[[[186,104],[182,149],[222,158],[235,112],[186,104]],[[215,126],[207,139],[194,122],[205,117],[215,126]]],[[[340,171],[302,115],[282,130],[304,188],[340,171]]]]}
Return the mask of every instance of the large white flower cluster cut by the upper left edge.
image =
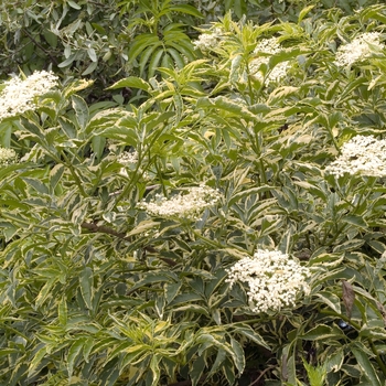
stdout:
{"type": "Polygon", "coordinates": [[[6,82],[0,94],[0,120],[34,109],[34,99],[57,85],[57,76],[51,72],[34,72],[22,79],[15,76],[6,82]]]}

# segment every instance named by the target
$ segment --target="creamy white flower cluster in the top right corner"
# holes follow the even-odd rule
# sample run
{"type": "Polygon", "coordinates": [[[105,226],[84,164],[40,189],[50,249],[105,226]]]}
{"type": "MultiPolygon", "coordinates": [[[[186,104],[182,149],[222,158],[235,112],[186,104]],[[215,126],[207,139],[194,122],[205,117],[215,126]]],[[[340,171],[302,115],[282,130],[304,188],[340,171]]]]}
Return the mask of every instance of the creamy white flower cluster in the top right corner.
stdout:
{"type": "Polygon", "coordinates": [[[341,45],[335,55],[337,66],[351,66],[355,62],[361,62],[372,56],[377,50],[384,50],[385,44],[380,43],[380,33],[366,32],[356,36],[351,43],[341,45]]]}

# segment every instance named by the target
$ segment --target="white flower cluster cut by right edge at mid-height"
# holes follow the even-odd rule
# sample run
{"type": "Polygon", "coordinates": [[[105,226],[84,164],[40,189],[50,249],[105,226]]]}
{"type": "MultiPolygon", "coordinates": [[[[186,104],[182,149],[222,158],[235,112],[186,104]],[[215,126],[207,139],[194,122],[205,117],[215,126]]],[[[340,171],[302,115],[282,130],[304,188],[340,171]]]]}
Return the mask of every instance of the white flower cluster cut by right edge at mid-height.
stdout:
{"type": "Polygon", "coordinates": [[[341,156],[325,171],[341,176],[344,173],[373,176],[386,175],[386,140],[373,136],[356,136],[345,142],[341,156]]]}

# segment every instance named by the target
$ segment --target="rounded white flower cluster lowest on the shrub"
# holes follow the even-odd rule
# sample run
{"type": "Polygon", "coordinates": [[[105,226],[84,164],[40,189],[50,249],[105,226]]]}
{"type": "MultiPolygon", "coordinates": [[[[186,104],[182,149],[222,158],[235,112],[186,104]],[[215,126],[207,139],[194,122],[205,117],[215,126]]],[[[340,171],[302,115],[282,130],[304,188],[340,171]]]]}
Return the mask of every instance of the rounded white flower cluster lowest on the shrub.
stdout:
{"type": "Polygon", "coordinates": [[[248,301],[253,312],[280,311],[294,307],[297,299],[310,292],[307,279],[311,271],[287,254],[258,249],[228,269],[226,281],[248,285],[248,301]]]}

